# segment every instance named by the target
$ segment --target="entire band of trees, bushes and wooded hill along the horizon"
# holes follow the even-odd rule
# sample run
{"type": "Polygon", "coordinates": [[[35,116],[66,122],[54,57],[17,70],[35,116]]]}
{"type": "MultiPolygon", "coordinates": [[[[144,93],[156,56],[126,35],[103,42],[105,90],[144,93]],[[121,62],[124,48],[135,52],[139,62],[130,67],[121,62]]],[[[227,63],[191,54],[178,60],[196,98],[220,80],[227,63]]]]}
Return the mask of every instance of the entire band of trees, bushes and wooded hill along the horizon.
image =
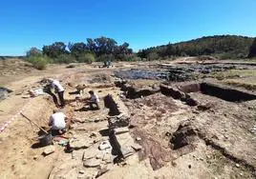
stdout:
{"type": "Polygon", "coordinates": [[[32,48],[27,60],[36,69],[44,69],[48,63],[92,63],[94,61],[139,61],[174,59],[180,56],[212,55],[220,59],[256,57],[256,38],[236,35],[215,35],[186,42],[167,44],[139,50],[134,53],[127,42],[117,45],[108,37],[88,38],[86,42],[54,42],[42,50],[32,48]]]}

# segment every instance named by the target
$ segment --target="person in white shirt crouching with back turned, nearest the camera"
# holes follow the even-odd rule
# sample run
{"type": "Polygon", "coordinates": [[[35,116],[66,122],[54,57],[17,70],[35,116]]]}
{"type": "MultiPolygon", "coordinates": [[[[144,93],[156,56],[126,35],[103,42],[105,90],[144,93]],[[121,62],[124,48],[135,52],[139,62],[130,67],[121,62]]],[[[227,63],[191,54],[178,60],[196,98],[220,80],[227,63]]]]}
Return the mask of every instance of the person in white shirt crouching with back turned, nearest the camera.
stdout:
{"type": "Polygon", "coordinates": [[[52,127],[52,135],[63,134],[67,129],[67,122],[67,116],[63,112],[54,109],[53,115],[51,115],[49,120],[49,126],[52,127]]]}

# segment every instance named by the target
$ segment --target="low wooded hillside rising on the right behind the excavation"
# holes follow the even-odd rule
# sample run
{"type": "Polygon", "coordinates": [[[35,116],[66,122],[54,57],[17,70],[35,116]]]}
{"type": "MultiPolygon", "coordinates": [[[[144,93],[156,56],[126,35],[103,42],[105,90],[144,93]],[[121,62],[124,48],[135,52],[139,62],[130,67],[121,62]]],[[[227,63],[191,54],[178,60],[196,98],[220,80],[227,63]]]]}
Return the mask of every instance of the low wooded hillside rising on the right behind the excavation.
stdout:
{"type": "Polygon", "coordinates": [[[253,38],[237,35],[206,36],[186,42],[167,44],[139,50],[141,58],[169,58],[171,56],[213,55],[221,59],[246,58],[253,38]]]}

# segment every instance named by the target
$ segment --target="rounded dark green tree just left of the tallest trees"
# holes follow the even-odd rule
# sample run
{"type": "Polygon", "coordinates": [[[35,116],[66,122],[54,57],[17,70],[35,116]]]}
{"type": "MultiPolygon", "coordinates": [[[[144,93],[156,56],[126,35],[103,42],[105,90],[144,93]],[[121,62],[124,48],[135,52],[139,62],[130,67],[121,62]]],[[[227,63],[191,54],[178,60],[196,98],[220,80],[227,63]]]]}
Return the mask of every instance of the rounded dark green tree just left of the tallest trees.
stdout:
{"type": "Polygon", "coordinates": [[[56,58],[60,54],[68,53],[66,45],[63,42],[55,42],[50,46],[43,47],[43,54],[46,54],[50,58],[56,58]]]}

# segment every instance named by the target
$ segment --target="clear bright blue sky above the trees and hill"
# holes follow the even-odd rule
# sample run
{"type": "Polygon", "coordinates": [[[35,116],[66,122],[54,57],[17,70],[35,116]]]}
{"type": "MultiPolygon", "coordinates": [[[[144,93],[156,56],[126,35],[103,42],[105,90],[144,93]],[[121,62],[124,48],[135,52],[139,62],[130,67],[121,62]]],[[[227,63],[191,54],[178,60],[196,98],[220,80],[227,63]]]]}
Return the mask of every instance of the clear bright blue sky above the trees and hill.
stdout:
{"type": "Polygon", "coordinates": [[[8,0],[0,55],[107,36],[134,50],[214,34],[256,36],[255,0],[8,0]]]}

